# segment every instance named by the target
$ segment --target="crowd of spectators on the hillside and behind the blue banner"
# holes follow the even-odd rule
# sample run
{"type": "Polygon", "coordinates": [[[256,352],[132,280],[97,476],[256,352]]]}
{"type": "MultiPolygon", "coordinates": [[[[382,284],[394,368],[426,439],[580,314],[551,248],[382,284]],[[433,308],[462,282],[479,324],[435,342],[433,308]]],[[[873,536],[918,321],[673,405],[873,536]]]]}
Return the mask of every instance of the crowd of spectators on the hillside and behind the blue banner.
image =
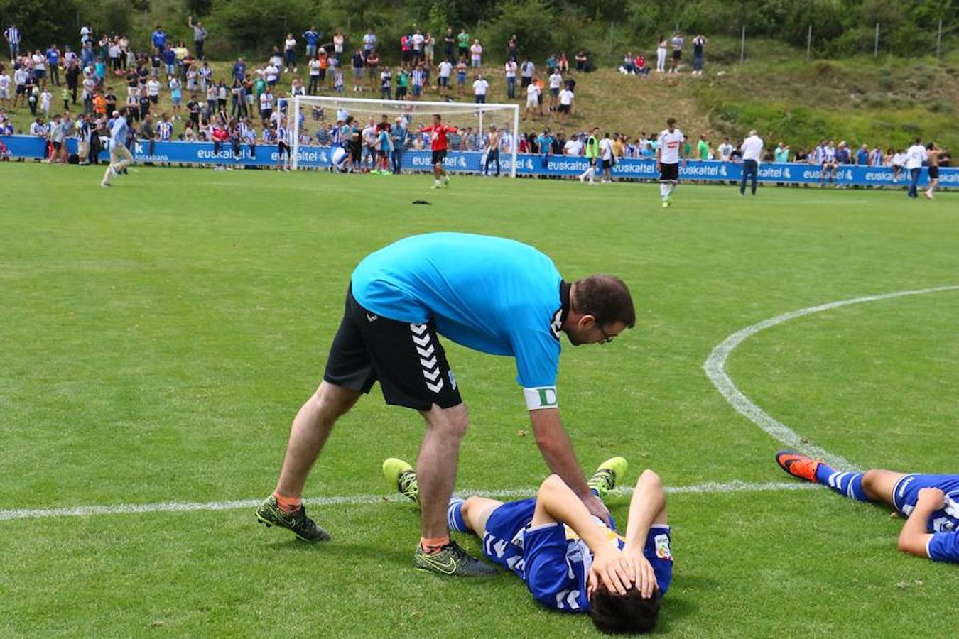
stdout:
{"type": "MultiPolygon", "coordinates": [[[[250,65],[240,57],[229,67],[228,76],[217,78],[203,57],[203,44],[208,35],[205,28],[192,18],[188,26],[193,33],[192,53],[185,41],[174,41],[162,25],[156,25],[149,43],[137,48],[124,35],[102,34],[98,38],[88,24],[82,26],[77,51],[70,45],[60,50],[56,44],[45,51],[21,51],[22,35],[11,25],[4,37],[11,52],[12,75],[11,70],[0,63],[0,134],[13,132],[6,109],[26,107],[33,122],[29,131],[20,132],[45,137],[51,161],[65,162],[66,146],[62,142],[77,137],[81,141],[79,161],[95,162],[99,138],[107,135],[113,113],[123,109],[133,125],[130,142],[134,138],[151,145],[156,141],[204,140],[218,147],[230,145],[238,155],[246,145],[249,152],[255,154],[259,143],[275,142],[283,136],[287,143],[292,142],[286,99],[324,92],[341,95],[345,91],[347,69],[353,92],[368,92],[370,97],[383,100],[415,102],[433,93],[433,99],[452,101],[454,92],[461,97],[470,90],[474,102],[484,103],[490,91],[490,82],[483,73],[489,68],[484,66],[483,45],[465,28],[458,34],[449,28],[439,38],[418,29],[403,34],[393,43],[399,59],[394,69],[381,61],[378,51],[381,45],[386,45],[373,29],[365,31],[349,54],[348,38],[341,31],[327,38],[311,26],[298,36],[286,34],[282,47],[274,46],[269,58],[262,63],[250,65]],[[301,66],[305,76],[300,75],[301,66]],[[281,89],[288,82],[289,90],[281,89]],[[125,94],[122,98],[118,97],[115,87],[122,87],[121,94],[125,94]],[[161,99],[164,104],[168,99],[170,107],[157,113],[161,99]]],[[[692,39],[693,75],[702,73],[707,41],[702,34],[692,39]]],[[[684,46],[685,40],[679,31],[671,38],[659,38],[656,71],[679,73],[684,46]]],[[[526,95],[523,112],[527,130],[515,139],[519,152],[543,156],[581,155],[587,134],[583,131],[567,134],[562,128],[573,112],[576,87],[575,73],[570,71],[567,55],[564,52],[550,54],[539,70],[534,60],[521,51],[519,38],[513,35],[504,47],[503,79],[507,100],[522,100],[526,95]],[[544,116],[547,109],[556,113],[561,126],[557,130],[549,127],[529,130],[530,120],[544,116]]],[[[592,70],[592,63],[580,51],[573,57],[573,68],[575,72],[588,72],[592,70]]],[[[650,69],[642,52],[627,52],[620,72],[644,77],[650,69]]],[[[300,144],[333,144],[347,117],[344,113],[337,116],[336,122],[332,118],[328,120],[321,107],[314,107],[309,116],[301,114],[300,144]]],[[[383,123],[377,126],[382,127],[383,123]]],[[[398,144],[402,148],[428,148],[428,140],[417,135],[413,126],[411,115],[404,116],[401,130],[406,136],[398,144]]],[[[352,124],[352,138],[363,140],[365,128],[352,124]]],[[[616,157],[653,158],[656,137],[644,131],[637,136],[611,132],[613,152],[616,157]]],[[[488,148],[490,139],[488,132],[467,126],[450,136],[450,148],[483,150],[488,148]]],[[[514,144],[508,124],[503,124],[492,139],[506,153],[514,144]]],[[[695,146],[687,140],[685,156],[692,160],[737,162],[741,159],[740,146],[741,141],[734,145],[726,138],[713,148],[703,135],[695,146]]],[[[905,154],[902,149],[868,145],[854,151],[846,142],[835,146],[824,140],[814,148],[798,151],[780,143],[768,149],[763,159],[817,165],[824,169],[824,179],[827,175],[834,176],[842,165],[886,166],[892,168],[898,179],[905,154]]],[[[947,162],[948,158],[945,159],[947,162]]]]}

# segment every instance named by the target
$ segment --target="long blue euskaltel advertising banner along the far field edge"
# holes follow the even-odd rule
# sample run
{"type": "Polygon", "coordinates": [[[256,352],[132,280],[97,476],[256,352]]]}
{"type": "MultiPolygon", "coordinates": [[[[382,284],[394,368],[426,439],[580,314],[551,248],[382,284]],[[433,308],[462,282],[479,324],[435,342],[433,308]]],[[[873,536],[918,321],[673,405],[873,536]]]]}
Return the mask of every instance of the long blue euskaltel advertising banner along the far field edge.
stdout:
{"type": "MultiPolygon", "coordinates": [[[[13,157],[43,158],[47,144],[42,138],[29,135],[0,136],[0,141],[8,148],[13,157]]],[[[77,152],[77,140],[67,140],[67,151],[77,152]]],[[[330,167],[332,147],[301,147],[299,166],[304,169],[326,169],[330,167]]],[[[212,142],[154,142],[134,143],[133,158],[137,162],[175,163],[175,164],[222,164],[226,166],[269,167],[277,163],[277,147],[273,144],[257,144],[255,149],[249,145],[240,146],[236,157],[229,144],[220,148],[212,142]]],[[[109,154],[103,151],[102,160],[108,160],[109,154]]],[[[431,171],[431,151],[407,149],[403,151],[402,168],[406,171],[431,171]]],[[[444,163],[447,171],[482,171],[485,153],[479,151],[450,151],[444,163]]],[[[517,157],[516,172],[519,175],[578,175],[589,166],[584,157],[568,155],[532,155],[520,154],[517,157]]],[[[501,173],[512,169],[512,160],[501,153],[501,173]]],[[[492,167],[491,167],[492,169],[492,167]]],[[[656,162],[651,159],[620,158],[613,167],[613,175],[618,178],[635,180],[656,180],[656,162]]],[[[598,170],[597,170],[598,172],[598,170]]],[[[738,182],[742,176],[742,165],[737,162],[718,160],[690,160],[680,166],[681,180],[703,182],[738,182]]],[[[774,184],[818,184],[820,169],[815,165],[790,163],[763,163],[760,165],[760,182],[774,184]]],[[[920,184],[928,182],[928,171],[923,171],[920,184]]],[[[859,167],[842,165],[835,175],[834,183],[840,186],[895,186],[908,184],[908,171],[903,170],[897,181],[893,181],[893,171],[886,167],[859,167]]],[[[959,187],[959,168],[941,169],[940,186],[959,187]]]]}

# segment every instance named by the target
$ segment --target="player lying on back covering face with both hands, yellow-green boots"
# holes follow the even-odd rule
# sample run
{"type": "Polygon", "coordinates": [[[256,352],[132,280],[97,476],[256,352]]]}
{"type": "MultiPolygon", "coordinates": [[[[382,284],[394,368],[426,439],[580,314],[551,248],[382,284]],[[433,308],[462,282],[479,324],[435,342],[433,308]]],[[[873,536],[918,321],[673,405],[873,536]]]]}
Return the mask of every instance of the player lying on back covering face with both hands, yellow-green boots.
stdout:
{"type": "MultiPolygon", "coordinates": [[[[601,499],[626,466],[622,457],[607,460],[590,479],[590,489],[601,499]]],[[[383,473],[418,503],[416,471],[409,464],[387,459],[383,473]]],[[[486,559],[516,573],[541,605],[587,612],[607,633],[655,627],[672,581],[672,554],[666,491],[652,470],[643,470],[636,484],[625,537],[590,514],[559,475],[547,477],[530,499],[503,503],[454,496],[447,520],[451,530],[478,536],[486,559]]]]}

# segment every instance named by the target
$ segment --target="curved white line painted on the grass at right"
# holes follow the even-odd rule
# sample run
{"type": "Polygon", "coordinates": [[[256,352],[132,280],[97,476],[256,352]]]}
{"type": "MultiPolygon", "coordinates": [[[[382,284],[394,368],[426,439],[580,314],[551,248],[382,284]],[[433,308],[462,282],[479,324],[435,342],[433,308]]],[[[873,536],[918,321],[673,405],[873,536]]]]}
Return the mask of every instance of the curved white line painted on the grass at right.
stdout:
{"type": "Polygon", "coordinates": [[[935,288],[920,288],[917,290],[900,290],[893,293],[883,293],[881,295],[867,295],[865,297],[856,297],[850,300],[840,300],[838,302],[830,302],[829,304],[821,304],[817,307],[800,308],[799,310],[783,313],[782,315],[777,315],[776,317],[762,320],[758,324],[754,324],[740,331],[736,331],[724,339],[721,344],[713,349],[713,353],[711,353],[706,359],[706,362],[703,364],[703,370],[706,371],[707,377],[710,378],[710,381],[713,382],[713,385],[716,387],[716,389],[724,398],[726,398],[727,401],[730,402],[730,404],[733,405],[733,408],[745,416],[750,422],[758,425],[773,439],[778,440],[779,442],[791,448],[801,450],[811,457],[821,457],[822,459],[826,460],[830,466],[843,469],[856,469],[852,464],[839,455],[830,453],[830,451],[821,446],[809,443],[806,438],[798,435],[794,430],[792,430],[792,428],[785,425],[783,422],[779,422],[775,418],[771,417],[768,413],[756,405],[756,402],[747,398],[742,391],[737,388],[733,380],[726,375],[726,360],[729,358],[729,355],[733,353],[733,350],[747,337],[751,337],[759,331],[764,331],[779,324],[783,324],[784,322],[788,322],[789,320],[796,319],[797,317],[811,315],[812,313],[818,313],[823,310],[830,310],[832,308],[848,307],[853,304],[878,302],[879,300],[906,297],[907,295],[925,295],[927,293],[938,293],[945,290],[959,290],[959,286],[937,286],[935,288]]]}

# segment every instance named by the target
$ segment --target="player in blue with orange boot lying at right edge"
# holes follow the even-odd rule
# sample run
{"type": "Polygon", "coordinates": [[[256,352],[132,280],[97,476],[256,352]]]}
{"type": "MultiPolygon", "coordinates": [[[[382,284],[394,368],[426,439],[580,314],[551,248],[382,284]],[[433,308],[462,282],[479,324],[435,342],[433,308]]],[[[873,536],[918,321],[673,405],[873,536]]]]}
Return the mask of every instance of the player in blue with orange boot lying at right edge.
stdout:
{"type": "Polygon", "coordinates": [[[856,501],[881,501],[908,517],[899,549],[933,561],[959,563],[959,474],[925,475],[874,468],[840,472],[792,450],[776,463],[794,477],[828,486],[856,501]]]}

